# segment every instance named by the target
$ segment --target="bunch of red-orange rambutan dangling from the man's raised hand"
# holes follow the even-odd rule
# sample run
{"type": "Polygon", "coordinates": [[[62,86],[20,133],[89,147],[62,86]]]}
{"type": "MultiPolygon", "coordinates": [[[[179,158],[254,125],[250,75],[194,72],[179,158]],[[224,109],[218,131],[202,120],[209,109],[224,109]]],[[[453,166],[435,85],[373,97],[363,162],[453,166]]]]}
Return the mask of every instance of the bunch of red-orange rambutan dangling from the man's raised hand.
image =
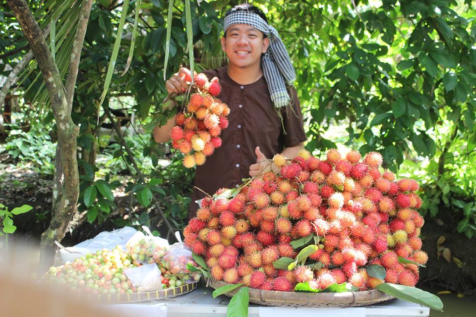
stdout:
{"type": "MultiPolygon", "coordinates": [[[[190,82],[191,78],[185,78],[190,82]]],[[[176,126],[170,131],[172,147],[185,155],[183,165],[192,168],[205,163],[206,157],[222,145],[220,134],[228,127],[230,108],[214,96],[221,91],[218,78],[209,82],[205,74],[194,76],[195,93],[183,112],[176,115],[176,126]]]]}

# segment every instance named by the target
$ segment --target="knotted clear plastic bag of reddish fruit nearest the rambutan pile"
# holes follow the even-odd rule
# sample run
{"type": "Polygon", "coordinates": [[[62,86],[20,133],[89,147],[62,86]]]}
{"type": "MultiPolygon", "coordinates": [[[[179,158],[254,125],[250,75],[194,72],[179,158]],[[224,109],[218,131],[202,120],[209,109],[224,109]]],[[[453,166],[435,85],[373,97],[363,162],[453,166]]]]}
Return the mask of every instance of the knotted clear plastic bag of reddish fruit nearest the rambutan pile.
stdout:
{"type": "Polygon", "coordinates": [[[192,251],[182,243],[178,231],[175,233],[175,236],[179,242],[174,243],[169,248],[161,262],[162,266],[167,269],[165,277],[178,276],[183,282],[188,282],[192,279],[198,281],[200,279],[200,274],[198,272],[190,272],[187,269],[188,263],[193,266],[198,266],[195,260],[193,260],[192,251]],[[183,276],[188,276],[188,278],[184,280],[183,276]]]}

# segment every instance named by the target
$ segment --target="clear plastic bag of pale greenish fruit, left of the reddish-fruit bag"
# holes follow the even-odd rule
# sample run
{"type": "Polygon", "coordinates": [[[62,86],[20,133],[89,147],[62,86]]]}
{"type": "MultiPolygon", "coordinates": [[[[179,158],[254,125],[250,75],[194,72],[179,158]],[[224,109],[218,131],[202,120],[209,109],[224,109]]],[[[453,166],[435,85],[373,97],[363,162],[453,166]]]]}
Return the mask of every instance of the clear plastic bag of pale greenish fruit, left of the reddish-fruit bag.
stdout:
{"type": "Polygon", "coordinates": [[[129,252],[133,264],[135,265],[159,264],[169,249],[169,241],[161,237],[153,236],[146,226],[142,226],[142,229],[146,235],[137,231],[129,241],[127,241],[127,252],[129,252]]]}

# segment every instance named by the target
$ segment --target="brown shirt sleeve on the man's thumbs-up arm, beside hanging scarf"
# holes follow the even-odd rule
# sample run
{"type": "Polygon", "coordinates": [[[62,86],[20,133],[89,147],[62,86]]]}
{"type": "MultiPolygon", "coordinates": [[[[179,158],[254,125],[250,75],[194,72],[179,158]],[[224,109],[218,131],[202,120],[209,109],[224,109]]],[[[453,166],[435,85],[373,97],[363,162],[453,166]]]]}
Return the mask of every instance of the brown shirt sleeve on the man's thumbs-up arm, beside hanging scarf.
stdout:
{"type": "Polygon", "coordinates": [[[291,105],[286,106],[282,111],[283,117],[283,144],[290,148],[307,140],[304,132],[304,123],[302,121],[301,106],[297,98],[297,92],[294,87],[290,87],[291,105]]]}

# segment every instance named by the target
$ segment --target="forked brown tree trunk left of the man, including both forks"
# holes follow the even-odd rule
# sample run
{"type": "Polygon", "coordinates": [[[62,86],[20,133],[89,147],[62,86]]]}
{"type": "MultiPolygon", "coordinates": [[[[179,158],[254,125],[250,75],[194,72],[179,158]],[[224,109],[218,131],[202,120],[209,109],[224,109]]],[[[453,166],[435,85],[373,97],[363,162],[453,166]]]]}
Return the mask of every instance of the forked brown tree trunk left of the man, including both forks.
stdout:
{"type": "Polygon", "coordinates": [[[58,145],[55,166],[53,212],[50,226],[43,232],[40,245],[40,270],[54,264],[56,248],[53,242],[61,240],[69,220],[76,209],[79,196],[79,174],[76,158],[76,139],[79,127],[71,119],[71,103],[78,71],[79,57],[89,20],[92,0],[83,2],[77,32],[68,68],[66,87],[48,48],[45,38],[25,0],[7,0],[40,68],[50,96],[51,106],[58,127],[58,145]]]}

